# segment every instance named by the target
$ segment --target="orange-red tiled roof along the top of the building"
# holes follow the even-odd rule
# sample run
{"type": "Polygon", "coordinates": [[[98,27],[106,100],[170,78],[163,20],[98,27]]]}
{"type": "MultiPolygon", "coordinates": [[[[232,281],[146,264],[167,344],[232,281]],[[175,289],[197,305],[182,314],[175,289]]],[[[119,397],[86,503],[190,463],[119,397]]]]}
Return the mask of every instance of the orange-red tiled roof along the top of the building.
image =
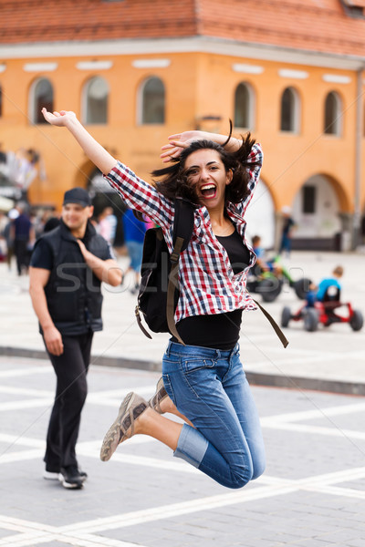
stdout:
{"type": "Polygon", "coordinates": [[[0,0],[0,45],[211,36],[365,57],[361,10],[365,0],[0,0]]]}

